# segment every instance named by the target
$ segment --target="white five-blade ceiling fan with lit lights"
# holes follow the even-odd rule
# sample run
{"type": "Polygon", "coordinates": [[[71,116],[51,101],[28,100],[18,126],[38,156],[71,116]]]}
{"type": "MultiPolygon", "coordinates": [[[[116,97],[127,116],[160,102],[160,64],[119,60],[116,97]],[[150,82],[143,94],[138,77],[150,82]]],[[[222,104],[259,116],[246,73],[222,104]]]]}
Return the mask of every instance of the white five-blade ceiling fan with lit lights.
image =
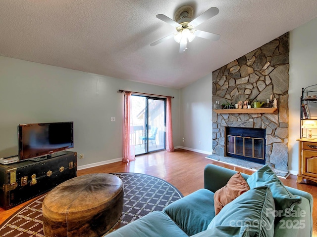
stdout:
{"type": "Polygon", "coordinates": [[[195,19],[191,19],[194,13],[194,8],[190,5],[185,5],[180,7],[174,14],[174,20],[169,17],[159,14],[157,18],[166,22],[167,24],[176,28],[176,33],[170,34],[160,40],[157,40],[151,43],[151,46],[157,45],[165,40],[174,37],[174,40],[179,43],[179,52],[182,53],[187,49],[187,43],[194,40],[195,37],[204,38],[207,40],[219,40],[220,35],[196,30],[195,27],[199,26],[206,20],[211,17],[217,15],[219,13],[219,9],[216,7],[211,7],[200,16],[195,19]]]}

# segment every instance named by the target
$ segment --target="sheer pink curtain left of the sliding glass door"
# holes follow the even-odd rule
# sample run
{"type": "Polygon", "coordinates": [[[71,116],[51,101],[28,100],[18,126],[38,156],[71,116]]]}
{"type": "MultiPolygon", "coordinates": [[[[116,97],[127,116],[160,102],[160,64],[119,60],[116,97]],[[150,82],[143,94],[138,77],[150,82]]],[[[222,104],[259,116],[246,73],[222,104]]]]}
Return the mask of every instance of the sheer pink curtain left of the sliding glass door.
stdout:
{"type": "Polygon", "coordinates": [[[126,91],[124,96],[124,121],[123,121],[123,158],[128,163],[135,160],[134,146],[131,144],[130,134],[132,129],[131,92],[126,91]]]}

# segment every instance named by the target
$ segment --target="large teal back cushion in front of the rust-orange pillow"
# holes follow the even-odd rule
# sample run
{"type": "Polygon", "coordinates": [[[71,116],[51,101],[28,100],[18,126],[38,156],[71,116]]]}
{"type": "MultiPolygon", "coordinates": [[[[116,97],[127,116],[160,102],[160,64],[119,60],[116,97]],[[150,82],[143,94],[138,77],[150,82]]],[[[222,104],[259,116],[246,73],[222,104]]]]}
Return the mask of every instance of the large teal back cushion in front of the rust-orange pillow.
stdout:
{"type": "Polygon", "coordinates": [[[250,237],[274,235],[275,209],[272,193],[267,186],[251,189],[225,205],[207,229],[216,226],[249,226],[250,237]]]}

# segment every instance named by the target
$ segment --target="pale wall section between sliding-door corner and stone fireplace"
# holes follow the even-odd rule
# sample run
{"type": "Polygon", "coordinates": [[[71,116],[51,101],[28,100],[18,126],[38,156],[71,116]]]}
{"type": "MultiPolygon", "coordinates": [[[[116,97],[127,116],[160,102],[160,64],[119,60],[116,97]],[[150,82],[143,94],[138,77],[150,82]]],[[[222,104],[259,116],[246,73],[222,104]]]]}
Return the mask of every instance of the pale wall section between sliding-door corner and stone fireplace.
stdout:
{"type": "Polygon", "coordinates": [[[181,90],[180,144],[188,150],[206,154],[212,152],[211,81],[209,74],[181,90]]]}

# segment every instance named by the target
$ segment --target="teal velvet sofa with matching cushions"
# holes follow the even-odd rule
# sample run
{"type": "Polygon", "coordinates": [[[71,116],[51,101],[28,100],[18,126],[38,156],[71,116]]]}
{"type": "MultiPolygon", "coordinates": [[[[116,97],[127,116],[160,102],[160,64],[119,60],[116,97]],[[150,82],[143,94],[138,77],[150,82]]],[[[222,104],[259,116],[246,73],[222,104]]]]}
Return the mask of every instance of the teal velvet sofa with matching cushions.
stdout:
{"type": "MultiPolygon", "coordinates": [[[[251,188],[251,184],[249,191],[226,204],[215,215],[214,193],[226,186],[236,173],[208,164],[205,167],[204,189],[169,204],[163,211],[149,213],[108,234],[107,237],[312,236],[312,195],[279,184],[277,188],[270,185],[251,188]],[[287,197],[277,195],[278,189],[284,189],[287,197]],[[282,202],[280,205],[292,203],[292,208],[285,208],[285,211],[275,209],[280,208],[276,198],[281,198],[277,200],[282,202]]],[[[264,178],[264,182],[269,179],[265,173],[252,177],[243,173],[241,175],[250,183],[259,177],[264,178]]]]}

